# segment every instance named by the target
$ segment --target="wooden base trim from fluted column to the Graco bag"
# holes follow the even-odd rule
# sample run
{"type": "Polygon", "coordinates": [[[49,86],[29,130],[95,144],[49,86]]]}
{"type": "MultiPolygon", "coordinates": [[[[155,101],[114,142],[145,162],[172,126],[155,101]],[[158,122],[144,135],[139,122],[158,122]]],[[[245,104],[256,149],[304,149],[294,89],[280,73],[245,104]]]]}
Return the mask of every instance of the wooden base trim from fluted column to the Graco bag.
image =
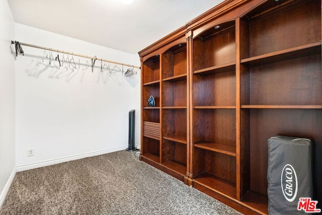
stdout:
{"type": "Polygon", "coordinates": [[[217,199],[218,201],[221,201],[222,203],[238,210],[241,213],[244,214],[268,214],[268,212],[263,212],[260,210],[257,210],[255,208],[250,207],[249,205],[246,205],[245,203],[238,201],[234,198],[231,198],[229,196],[223,195],[219,192],[216,192],[212,189],[209,189],[206,186],[203,186],[202,184],[196,183],[193,181],[193,187],[197,190],[200,190],[203,193],[206,193],[207,195],[217,199]]]}

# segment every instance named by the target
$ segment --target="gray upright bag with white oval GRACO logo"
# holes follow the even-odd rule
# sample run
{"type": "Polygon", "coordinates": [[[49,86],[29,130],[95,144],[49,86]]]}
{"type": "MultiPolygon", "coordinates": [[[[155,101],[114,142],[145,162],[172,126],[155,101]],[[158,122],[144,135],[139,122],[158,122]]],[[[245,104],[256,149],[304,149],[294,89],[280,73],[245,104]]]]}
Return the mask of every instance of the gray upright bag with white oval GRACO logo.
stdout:
{"type": "Polygon", "coordinates": [[[281,135],[268,139],[269,214],[307,214],[308,202],[301,202],[300,210],[298,205],[313,197],[312,148],[311,139],[281,135]]]}

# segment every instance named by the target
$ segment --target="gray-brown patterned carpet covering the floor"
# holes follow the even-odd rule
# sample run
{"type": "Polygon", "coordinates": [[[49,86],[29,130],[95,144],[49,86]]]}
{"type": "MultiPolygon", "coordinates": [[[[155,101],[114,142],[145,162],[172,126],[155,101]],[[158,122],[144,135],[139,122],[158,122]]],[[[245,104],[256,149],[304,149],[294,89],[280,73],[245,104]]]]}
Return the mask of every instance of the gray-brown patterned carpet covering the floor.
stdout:
{"type": "Polygon", "coordinates": [[[16,174],[0,214],[239,214],[120,151],[16,174]]]}

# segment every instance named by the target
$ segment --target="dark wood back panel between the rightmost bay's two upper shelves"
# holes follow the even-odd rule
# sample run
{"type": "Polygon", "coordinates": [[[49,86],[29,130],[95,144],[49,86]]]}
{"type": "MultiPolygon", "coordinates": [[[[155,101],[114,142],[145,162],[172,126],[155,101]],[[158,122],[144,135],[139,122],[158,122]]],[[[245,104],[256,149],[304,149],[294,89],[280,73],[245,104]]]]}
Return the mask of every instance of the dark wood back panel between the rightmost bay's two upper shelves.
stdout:
{"type": "Polygon", "coordinates": [[[250,104],[322,105],[321,55],[250,68],[250,104]]]}

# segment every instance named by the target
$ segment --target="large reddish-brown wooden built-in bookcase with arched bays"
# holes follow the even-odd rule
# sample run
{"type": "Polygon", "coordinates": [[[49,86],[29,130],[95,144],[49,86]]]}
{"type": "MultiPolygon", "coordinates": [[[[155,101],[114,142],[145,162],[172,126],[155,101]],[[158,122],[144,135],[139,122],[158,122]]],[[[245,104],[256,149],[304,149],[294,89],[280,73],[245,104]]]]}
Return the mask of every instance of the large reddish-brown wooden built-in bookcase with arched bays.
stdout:
{"type": "Polygon", "coordinates": [[[142,125],[160,124],[141,142],[146,162],[267,214],[267,139],[311,138],[322,202],[321,26],[319,0],[226,0],[140,51],[142,125]]]}

